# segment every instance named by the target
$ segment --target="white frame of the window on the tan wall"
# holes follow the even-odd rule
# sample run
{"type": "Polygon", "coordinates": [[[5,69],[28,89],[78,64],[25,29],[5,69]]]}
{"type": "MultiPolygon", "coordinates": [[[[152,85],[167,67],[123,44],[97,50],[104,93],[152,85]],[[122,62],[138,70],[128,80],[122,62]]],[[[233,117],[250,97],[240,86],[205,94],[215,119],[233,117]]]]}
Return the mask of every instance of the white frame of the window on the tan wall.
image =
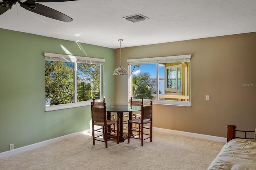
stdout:
{"type": "MultiPolygon", "coordinates": [[[[156,100],[152,100],[154,104],[172,105],[172,106],[191,106],[191,55],[178,55],[178,56],[166,56],[166,57],[152,57],[152,58],[142,58],[142,59],[128,59],[128,100],[132,97],[132,65],[134,64],[156,64],[156,84],[157,84],[157,94],[156,100]],[[176,101],[176,100],[159,100],[159,64],[163,63],[180,63],[189,62],[188,77],[189,77],[189,101],[176,101]]],[[[140,99],[132,99],[134,101],[140,101],[140,99]]],[[[144,99],[144,102],[149,103],[150,100],[144,99]]]]}

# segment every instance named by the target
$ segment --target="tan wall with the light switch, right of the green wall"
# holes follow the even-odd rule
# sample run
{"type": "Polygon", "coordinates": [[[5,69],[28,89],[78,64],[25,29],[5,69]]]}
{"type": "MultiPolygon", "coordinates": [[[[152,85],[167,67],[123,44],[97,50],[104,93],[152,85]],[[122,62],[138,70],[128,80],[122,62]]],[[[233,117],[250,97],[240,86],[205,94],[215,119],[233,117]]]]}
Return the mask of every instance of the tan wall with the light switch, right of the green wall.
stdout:
{"type": "MultiPolygon", "coordinates": [[[[191,107],[154,104],[153,126],[219,137],[226,137],[227,124],[253,130],[256,33],[122,48],[122,66],[128,68],[127,59],[186,54],[192,55],[191,107]]],[[[117,67],[119,49],[115,55],[117,67]]],[[[128,76],[116,76],[116,103],[127,101],[128,76]]]]}

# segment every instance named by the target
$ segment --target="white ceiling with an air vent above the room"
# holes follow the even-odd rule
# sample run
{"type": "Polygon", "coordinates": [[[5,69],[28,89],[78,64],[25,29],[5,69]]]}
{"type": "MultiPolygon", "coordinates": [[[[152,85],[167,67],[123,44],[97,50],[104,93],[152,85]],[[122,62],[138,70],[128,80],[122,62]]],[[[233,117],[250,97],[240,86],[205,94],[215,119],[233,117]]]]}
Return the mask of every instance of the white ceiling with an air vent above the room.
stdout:
{"type": "MultiPolygon", "coordinates": [[[[2,0],[0,0],[2,1],[2,0]]],[[[256,0],[77,0],[45,6],[73,18],[66,23],[16,4],[0,28],[109,48],[256,32],[256,0]],[[18,15],[17,15],[18,12],[18,15]],[[123,17],[142,14],[146,21],[123,17]]]]}

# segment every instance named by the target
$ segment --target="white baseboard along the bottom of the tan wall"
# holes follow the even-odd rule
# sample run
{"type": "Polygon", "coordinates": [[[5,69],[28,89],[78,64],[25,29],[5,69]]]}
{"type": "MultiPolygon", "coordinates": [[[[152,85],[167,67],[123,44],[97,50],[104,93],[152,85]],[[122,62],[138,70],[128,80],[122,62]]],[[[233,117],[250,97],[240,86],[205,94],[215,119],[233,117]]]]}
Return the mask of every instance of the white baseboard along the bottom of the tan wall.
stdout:
{"type": "Polygon", "coordinates": [[[175,135],[182,135],[182,136],[188,136],[188,137],[195,137],[199,139],[206,139],[210,141],[217,141],[217,142],[227,142],[227,138],[225,137],[217,137],[217,136],[210,136],[210,135],[203,135],[199,133],[190,133],[190,132],[184,132],[184,131],[176,131],[176,130],[171,130],[171,129],[162,129],[158,127],[153,127],[153,131],[158,131],[158,132],[164,132],[164,133],[170,133],[170,134],[175,134],[175,135]]]}

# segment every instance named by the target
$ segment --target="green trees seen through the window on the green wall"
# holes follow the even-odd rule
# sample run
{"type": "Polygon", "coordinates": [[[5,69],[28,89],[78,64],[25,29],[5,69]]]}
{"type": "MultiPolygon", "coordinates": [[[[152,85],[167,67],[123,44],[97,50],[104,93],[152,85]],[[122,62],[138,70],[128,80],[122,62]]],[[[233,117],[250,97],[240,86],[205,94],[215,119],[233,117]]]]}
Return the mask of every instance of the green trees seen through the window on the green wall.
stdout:
{"type": "MultiPolygon", "coordinates": [[[[73,63],[45,61],[45,98],[50,105],[74,102],[73,63]]],[[[100,65],[77,63],[77,100],[98,99],[100,65]]]]}

